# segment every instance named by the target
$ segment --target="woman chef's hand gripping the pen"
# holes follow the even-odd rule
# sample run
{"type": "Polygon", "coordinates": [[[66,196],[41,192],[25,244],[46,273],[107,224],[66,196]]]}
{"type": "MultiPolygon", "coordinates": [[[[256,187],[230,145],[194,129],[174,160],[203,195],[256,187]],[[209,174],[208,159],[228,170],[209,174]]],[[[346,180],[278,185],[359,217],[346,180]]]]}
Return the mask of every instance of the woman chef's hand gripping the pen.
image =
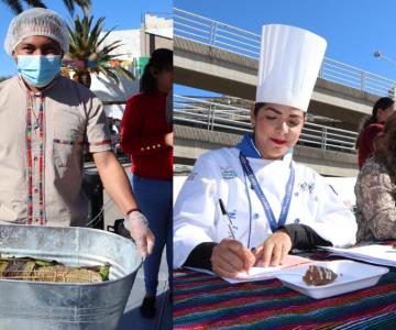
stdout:
{"type": "Polygon", "coordinates": [[[212,271],[221,277],[237,277],[254,265],[252,252],[239,241],[223,239],[213,248],[210,262],[212,271]]]}

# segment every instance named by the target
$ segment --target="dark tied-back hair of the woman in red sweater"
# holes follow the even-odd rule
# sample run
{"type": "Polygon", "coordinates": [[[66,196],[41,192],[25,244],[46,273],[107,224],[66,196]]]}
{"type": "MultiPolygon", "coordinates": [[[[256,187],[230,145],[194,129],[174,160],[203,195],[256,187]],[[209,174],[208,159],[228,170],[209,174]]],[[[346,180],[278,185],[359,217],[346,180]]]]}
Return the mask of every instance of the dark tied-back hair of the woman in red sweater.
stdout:
{"type": "Polygon", "coordinates": [[[152,75],[151,69],[156,73],[162,70],[172,70],[173,52],[167,48],[158,48],[152,53],[141,79],[141,90],[145,92],[156,92],[158,90],[157,81],[152,75]]]}

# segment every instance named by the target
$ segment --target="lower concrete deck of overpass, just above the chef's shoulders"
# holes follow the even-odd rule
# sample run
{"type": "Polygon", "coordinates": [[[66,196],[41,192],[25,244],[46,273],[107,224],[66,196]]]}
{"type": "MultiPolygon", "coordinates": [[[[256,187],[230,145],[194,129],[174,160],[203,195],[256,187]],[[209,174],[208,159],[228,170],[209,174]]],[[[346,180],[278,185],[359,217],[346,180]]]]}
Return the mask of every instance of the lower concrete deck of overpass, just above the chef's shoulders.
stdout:
{"type": "MultiPolygon", "coordinates": [[[[174,124],[175,133],[175,164],[193,165],[202,153],[213,148],[235,145],[241,135],[224,132],[208,131],[205,129],[189,128],[174,124]]],[[[355,154],[321,150],[297,145],[295,161],[306,164],[326,176],[358,175],[358,160],[355,154]]]]}

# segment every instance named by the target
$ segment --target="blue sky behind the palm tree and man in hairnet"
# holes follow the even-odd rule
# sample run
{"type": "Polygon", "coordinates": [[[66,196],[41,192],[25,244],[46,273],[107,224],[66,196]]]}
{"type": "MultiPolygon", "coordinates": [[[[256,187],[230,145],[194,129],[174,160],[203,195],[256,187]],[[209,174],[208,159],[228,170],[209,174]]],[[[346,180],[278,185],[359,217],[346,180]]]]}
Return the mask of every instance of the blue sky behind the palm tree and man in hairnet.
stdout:
{"type": "MultiPolygon", "coordinates": [[[[44,0],[50,9],[57,11],[69,22],[69,14],[61,0],[44,0]]],[[[91,0],[94,16],[106,16],[105,29],[117,26],[116,30],[140,29],[142,14],[172,13],[172,0],[91,0]]],[[[79,11],[78,11],[79,12],[79,11]]],[[[0,76],[16,73],[12,59],[6,54],[3,43],[8,25],[14,14],[0,2],[0,76]]]]}

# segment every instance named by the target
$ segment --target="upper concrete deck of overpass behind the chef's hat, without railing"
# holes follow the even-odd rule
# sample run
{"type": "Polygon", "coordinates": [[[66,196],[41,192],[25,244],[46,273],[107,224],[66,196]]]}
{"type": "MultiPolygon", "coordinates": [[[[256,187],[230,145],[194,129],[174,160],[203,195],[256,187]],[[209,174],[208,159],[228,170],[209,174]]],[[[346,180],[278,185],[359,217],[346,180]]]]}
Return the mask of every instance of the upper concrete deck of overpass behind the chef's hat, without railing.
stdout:
{"type": "MultiPolygon", "coordinates": [[[[258,61],[233,52],[174,37],[176,84],[254,100],[258,61]]],[[[340,120],[339,128],[358,131],[378,96],[318,78],[309,112],[340,120]]]]}

